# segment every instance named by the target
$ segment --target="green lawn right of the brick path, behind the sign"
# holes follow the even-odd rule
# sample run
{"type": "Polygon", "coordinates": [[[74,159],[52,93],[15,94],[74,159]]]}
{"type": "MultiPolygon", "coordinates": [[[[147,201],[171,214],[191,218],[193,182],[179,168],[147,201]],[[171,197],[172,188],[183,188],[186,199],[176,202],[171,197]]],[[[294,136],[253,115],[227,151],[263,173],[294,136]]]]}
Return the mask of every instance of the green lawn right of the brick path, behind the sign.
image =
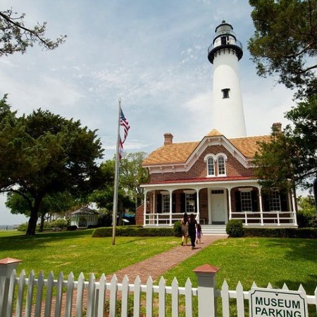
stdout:
{"type": "MultiPolygon", "coordinates": [[[[203,237],[204,239],[204,237],[203,237]]],[[[170,284],[174,276],[180,285],[189,277],[197,285],[194,268],[209,263],[220,268],[216,275],[217,288],[223,281],[234,290],[240,281],[244,290],[253,282],[258,287],[281,288],[284,283],[290,290],[300,284],[313,295],[317,287],[317,240],[279,238],[228,238],[218,240],[196,256],[180,263],[164,274],[170,284]]]]}

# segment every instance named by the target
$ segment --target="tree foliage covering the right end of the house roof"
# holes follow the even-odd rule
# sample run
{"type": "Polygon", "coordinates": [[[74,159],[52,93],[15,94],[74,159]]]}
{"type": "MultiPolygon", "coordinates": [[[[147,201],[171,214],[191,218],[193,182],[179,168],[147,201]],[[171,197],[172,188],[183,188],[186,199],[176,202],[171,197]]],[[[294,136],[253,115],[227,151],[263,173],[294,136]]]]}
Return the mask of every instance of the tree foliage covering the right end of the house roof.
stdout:
{"type": "Polygon", "coordinates": [[[273,131],[271,142],[260,144],[256,175],[266,188],[309,188],[317,174],[317,97],[300,102],[285,117],[292,125],[273,131]]]}

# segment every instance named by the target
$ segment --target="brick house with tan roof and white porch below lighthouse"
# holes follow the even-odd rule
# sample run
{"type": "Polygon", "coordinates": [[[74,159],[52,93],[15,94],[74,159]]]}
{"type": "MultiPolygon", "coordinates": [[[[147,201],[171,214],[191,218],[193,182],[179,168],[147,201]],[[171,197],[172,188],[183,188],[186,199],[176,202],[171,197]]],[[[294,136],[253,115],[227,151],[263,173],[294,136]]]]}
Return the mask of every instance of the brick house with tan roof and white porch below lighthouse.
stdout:
{"type": "Polygon", "coordinates": [[[266,194],[254,176],[256,142],[270,135],[227,139],[211,130],[201,141],[182,143],[164,137],[142,164],[150,180],[142,185],[147,204],[137,209],[138,225],[173,225],[187,212],[202,225],[237,218],[249,226],[297,226],[294,193],[266,194]]]}

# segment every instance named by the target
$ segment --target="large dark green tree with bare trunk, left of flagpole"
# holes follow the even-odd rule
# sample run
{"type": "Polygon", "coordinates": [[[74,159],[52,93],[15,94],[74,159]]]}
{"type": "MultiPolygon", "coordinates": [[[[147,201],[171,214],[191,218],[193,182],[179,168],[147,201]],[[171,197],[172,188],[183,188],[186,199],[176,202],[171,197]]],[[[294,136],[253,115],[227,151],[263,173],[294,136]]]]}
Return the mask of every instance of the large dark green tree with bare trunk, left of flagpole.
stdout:
{"type": "Polygon", "coordinates": [[[35,235],[46,195],[68,191],[76,197],[99,184],[101,142],[79,120],[41,109],[20,118],[9,111],[0,120],[0,149],[0,191],[15,192],[27,201],[27,235],[35,235]]]}

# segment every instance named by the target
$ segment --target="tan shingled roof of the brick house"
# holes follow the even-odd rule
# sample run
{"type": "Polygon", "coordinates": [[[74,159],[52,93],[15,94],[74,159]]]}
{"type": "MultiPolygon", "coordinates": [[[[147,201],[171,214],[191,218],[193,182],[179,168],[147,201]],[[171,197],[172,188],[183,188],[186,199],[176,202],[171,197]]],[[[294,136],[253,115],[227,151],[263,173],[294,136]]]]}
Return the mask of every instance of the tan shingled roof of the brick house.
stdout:
{"type": "MultiPolygon", "coordinates": [[[[219,137],[223,136],[218,130],[211,130],[205,137],[219,137]]],[[[228,141],[240,151],[247,159],[254,157],[256,149],[258,149],[257,142],[269,142],[270,135],[262,135],[256,137],[237,137],[228,139],[228,141]]],[[[180,142],[165,144],[163,147],[154,150],[144,159],[142,166],[164,165],[185,163],[192,152],[198,147],[197,142],[180,142]]]]}

